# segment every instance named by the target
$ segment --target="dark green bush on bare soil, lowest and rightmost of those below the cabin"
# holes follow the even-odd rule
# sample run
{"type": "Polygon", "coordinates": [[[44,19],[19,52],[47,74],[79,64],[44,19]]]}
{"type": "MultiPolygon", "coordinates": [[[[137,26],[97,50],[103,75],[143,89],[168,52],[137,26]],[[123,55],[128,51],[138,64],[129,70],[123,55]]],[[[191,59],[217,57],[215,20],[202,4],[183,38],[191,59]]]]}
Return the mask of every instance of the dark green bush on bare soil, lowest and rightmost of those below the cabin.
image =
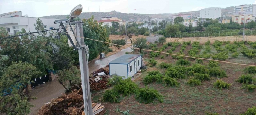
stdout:
{"type": "Polygon", "coordinates": [[[140,100],[140,102],[143,102],[145,104],[153,102],[154,99],[157,99],[159,102],[162,103],[163,95],[161,95],[157,90],[153,88],[145,87],[138,90],[136,99],[140,100]]]}

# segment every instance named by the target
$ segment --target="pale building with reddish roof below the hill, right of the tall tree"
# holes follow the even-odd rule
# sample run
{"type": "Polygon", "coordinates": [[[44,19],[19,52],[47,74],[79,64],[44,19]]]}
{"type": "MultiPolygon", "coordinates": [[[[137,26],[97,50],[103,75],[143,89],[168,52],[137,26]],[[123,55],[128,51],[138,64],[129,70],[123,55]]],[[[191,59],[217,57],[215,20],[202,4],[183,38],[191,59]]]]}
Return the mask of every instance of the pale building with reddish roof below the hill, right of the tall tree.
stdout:
{"type": "Polygon", "coordinates": [[[125,25],[125,22],[123,22],[123,19],[118,19],[117,17],[102,17],[101,20],[97,21],[98,23],[103,22],[103,25],[109,25],[112,26],[112,22],[118,22],[120,25],[125,25]]]}

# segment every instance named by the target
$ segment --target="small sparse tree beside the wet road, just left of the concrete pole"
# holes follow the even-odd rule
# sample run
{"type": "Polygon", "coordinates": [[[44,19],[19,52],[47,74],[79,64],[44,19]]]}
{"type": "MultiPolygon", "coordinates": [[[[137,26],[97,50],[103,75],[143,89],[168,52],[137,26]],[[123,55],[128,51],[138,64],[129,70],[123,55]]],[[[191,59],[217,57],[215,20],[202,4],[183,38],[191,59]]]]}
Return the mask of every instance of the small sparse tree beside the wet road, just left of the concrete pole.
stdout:
{"type": "Polygon", "coordinates": [[[57,79],[60,84],[66,89],[81,83],[80,70],[76,66],[71,66],[68,69],[58,71],[57,79]]]}

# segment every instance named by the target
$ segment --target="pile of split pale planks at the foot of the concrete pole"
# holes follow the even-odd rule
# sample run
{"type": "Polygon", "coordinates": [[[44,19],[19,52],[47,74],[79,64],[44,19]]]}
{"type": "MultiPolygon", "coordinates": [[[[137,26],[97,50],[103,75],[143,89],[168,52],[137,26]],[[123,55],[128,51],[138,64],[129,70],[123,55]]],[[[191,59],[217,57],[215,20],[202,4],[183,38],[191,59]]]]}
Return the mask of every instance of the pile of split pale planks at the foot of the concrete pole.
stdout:
{"type": "MultiPolygon", "coordinates": [[[[79,108],[79,111],[84,108],[84,105],[82,105],[79,108]]],[[[104,105],[101,105],[101,103],[92,103],[92,112],[93,115],[104,115],[106,113],[104,105]]],[[[82,111],[82,115],[85,115],[84,111],[82,111]]]]}

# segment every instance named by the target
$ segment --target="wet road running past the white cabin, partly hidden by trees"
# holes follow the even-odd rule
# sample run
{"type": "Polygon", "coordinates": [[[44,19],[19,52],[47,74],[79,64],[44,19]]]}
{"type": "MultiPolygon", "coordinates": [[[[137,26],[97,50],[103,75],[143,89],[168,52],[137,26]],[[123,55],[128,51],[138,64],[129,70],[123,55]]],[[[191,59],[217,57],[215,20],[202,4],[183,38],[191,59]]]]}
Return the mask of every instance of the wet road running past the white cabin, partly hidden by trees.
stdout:
{"type": "MultiPolygon", "coordinates": [[[[126,51],[131,52],[131,48],[123,49],[104,59],[97,59],[89,62],[89,72],[92,73],[93,71],[105,67],[110,61],[124,55],[126,51]]],[[[33,88],[31,96],[34,96],[37,99],[31,100],[30,103],[33,104],[34,107],[30,108],[31,113],[29,115],[35,115],[44,103],[51,102],[52,99],[61,96],[64,92],[65,89],[60,83],[58,83],[57,79],[33,88]]]]}

